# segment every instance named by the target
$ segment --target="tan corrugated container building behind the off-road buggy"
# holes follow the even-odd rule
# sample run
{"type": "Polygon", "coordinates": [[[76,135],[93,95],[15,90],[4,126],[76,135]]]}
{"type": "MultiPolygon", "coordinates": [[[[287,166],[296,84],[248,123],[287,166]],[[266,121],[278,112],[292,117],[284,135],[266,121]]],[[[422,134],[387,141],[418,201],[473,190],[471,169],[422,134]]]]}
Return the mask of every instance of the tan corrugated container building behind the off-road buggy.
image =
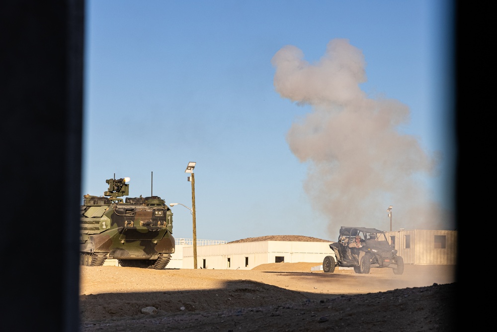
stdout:
{"type": "Polygon", "coordinates": [[[405,264],[457,264],[457,230],[398,230],[386,235],[405,264]]]}

